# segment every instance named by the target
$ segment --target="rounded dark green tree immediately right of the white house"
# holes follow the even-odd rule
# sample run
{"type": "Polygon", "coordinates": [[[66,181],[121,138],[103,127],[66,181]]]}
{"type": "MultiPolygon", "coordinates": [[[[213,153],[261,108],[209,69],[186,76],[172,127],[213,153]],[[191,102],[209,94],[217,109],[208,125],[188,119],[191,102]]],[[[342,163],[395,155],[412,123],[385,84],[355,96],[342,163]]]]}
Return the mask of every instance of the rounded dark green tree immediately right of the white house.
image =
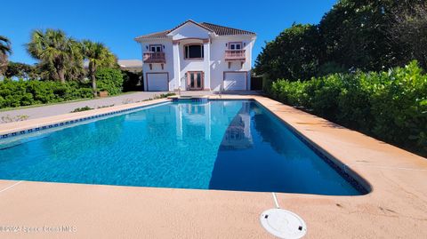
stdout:
{"type": "Polygon", "coordinates": [[[255,60],[255,73],[272,80],[310,79],[318,72],[323,43],[314,25],[294,24],[262,48],[255,60]]]}

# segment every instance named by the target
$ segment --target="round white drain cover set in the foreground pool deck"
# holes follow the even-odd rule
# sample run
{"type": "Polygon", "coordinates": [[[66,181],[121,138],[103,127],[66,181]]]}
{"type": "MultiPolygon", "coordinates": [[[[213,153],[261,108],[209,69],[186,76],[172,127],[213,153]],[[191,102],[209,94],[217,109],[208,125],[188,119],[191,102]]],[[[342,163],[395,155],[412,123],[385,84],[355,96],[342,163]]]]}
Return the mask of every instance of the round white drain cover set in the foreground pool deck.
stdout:
{"type": "Polygon", "coordinates": [[[292,211],[275,208],[262,212],[261,224],[270,234],[279,238],[301,238],[307,233],[304,220],[292,211]]]}

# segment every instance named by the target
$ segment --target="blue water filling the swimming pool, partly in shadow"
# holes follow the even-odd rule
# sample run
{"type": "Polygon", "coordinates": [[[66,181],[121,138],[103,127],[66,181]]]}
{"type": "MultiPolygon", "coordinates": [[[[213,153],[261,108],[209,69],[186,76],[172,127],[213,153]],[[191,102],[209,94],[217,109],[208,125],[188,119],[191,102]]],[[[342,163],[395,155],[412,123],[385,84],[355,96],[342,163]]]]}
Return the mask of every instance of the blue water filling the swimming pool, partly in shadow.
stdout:
{"type": "Polygon", "coordinates": [[[0,140],[0,179],[360,195],[267,109],[169,102],[0,140]]]}

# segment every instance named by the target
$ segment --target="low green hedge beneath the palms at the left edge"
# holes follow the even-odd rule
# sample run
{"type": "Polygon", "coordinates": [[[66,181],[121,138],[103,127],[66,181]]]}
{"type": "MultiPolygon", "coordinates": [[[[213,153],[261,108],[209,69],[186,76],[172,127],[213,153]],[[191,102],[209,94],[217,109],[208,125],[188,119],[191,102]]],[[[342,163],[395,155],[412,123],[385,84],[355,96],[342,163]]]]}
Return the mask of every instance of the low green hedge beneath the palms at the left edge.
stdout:
{"type": "Polygon", "coordinates": [[[77,82],[60,84],[52,81],[0,81],[0,108],[93,98],[89,85],[77,82]]]}

